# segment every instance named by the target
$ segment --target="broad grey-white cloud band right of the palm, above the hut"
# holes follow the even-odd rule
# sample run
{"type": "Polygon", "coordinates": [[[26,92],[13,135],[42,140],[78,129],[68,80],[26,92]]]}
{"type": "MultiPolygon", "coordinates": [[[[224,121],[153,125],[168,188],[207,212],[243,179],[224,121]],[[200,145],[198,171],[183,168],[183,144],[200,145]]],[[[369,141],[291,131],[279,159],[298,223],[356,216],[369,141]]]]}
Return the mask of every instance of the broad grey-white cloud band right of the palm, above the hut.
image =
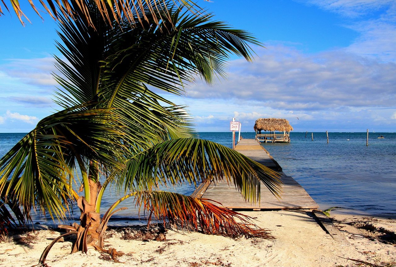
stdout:
{"type": "Polygon", "coordinates": [[[268,47],[253,63],[234,61],[228,80],[187,89],[188,98],[238,99],[284,110],[386,107],[396,102],[396,64],[343,50],[305,55],[268,47]]]}

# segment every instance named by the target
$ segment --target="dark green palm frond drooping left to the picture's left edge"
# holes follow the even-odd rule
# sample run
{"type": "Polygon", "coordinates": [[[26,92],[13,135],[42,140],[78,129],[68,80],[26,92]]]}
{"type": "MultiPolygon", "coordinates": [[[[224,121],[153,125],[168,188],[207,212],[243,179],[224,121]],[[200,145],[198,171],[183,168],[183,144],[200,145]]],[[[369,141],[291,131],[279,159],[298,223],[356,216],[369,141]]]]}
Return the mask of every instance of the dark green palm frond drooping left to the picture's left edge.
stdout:
{"type": "Polygon", "coordinates": [[[32,207],[63,218],[77,197],[70,178],[76,161],[90,159],[121,168],[121,127],[111,110],[87,105],[42,119],[0,159],[1,197],[17,199],[27,218],[32,207]]]}

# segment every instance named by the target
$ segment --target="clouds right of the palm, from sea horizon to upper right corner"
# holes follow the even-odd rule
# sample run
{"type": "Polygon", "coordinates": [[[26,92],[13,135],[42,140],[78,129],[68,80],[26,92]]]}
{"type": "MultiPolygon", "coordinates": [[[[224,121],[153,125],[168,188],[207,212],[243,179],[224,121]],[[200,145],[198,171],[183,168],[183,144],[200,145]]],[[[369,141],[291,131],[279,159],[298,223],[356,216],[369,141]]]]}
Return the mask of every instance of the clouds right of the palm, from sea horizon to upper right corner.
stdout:
{"type": "Polygon", "coordinates": [[[210,121],[199,124],[201,129],[237,117],[251,131],[258,117],[284,117],[297,131],[396,130],[396,3],[308,4],[337,13],[344,18],[341,25],[358,37],[346,47],[316,53],[299,49],[299,44],[264,42],[266,49],[256,49],[253,63],[230,63],[227,80],[213,87],[199,82],[187,90],[194,99],[190,105],[202,106],[211,98],[234,108],[227,118],[225,112],[213,112],[210,121]]]}

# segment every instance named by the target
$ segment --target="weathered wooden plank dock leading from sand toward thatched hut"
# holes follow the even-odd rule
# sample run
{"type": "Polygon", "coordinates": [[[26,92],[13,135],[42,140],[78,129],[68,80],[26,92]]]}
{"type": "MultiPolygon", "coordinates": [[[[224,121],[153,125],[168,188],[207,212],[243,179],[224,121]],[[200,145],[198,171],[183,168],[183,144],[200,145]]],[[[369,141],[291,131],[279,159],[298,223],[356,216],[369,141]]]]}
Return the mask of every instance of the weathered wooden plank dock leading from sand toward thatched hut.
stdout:
{"type": "Polygon", "coordinates": [[[264,184],[261,184],[260,203],[248,203],[235,189],[233,182],[228,185],[226,181],[216,182],[216,186],[213,183],[201,184],[194,191],[194,196],[218,201],[230,209],[285,210],[319,208],[318,204],[308,195],[307,191],[291,176],[284,174],[279,164],[256,140],[242,139],[236,145],[235,150],[281,174],[281,180],[283,182],[282,199],[277,199],[264,184]]]}

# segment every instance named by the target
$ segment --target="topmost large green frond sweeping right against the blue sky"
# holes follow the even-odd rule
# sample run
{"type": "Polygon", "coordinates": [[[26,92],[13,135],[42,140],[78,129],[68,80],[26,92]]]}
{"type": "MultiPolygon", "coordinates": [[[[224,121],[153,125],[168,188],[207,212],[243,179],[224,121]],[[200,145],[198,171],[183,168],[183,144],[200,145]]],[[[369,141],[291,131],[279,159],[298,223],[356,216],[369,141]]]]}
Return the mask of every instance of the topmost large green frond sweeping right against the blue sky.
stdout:
{"type": "Polygon", "coordinates": [[[224,75],[231,53],[251,60],[248,44],[261,45],[243,30],[212,21],[211,15],[196,17],[181,13],[180,9],[171,9],[169,14],[172,23],[163,22],[163,27],[171,29],[169,32],[136,27],[120,32],[114,44],[109,45],[109,51],[114,45],[117,53],[110,53],[106,59],[106,68],[112,70],[112,79],[108,80],[120,81],[120,90],[128,81],[139,81],[180,94],[183,83],[194,80],[196,75],[209,83],[214,75],[224,75]]]}

